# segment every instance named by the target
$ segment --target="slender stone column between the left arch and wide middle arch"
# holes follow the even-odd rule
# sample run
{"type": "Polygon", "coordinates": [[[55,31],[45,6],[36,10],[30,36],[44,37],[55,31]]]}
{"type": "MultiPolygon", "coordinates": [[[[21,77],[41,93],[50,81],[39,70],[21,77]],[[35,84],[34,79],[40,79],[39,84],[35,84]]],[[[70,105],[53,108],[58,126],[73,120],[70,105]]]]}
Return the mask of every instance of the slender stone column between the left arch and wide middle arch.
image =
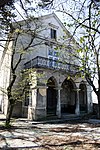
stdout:
{"type": "Polygon", "coordinates": [[[56,111],[56,114],[57,114],[58,118],[61,118],[61,100],[60,100],[61,87],[56,88],[56,90],[57,90],[57,111],[56,111]]]}

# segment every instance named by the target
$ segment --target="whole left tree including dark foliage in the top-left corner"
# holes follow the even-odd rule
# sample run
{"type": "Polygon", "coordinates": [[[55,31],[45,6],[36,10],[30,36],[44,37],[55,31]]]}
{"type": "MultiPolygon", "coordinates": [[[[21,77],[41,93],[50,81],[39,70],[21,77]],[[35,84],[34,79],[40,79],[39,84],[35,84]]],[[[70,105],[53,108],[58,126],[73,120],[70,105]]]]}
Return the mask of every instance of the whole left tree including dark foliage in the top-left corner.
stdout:
{"type": "MultiPolygon", "coordinates": [[[[13,47],[10,49],[11,51],[11,64],[10,64],[10,81],[7,89],[2,89],[3,92],[7,94],[8,97],[8,109],[6,115],[6,126],[9,126],[13,108],[15,103],[22,99],[24,92],[27,90],[27,85],[29,83],[29,76],[26,76],[22,81],[20,80],[23,70],[19,69],[20,64],[25,59],[25,55],[31,49],[37,45],[42,44],[42,41],[38,40],[38,42],[34,43],[37,32],[39,32],[40,24],[36,23],[37,19],[34,17],[30,17],[28,13],[29,8],[25,7],[24,2],[30,3],[30,1],[26,0],[22,2],[19,0],[20,6],[24,12],[24,14],[19,14],[22,17],[23,21],[17,21],[16,15],[14,13],[15,6],[14,2],[12,5],[3,5],[1,7],[1,42],[6,41],[6,45],[3,51],[3,55],[7,53],[9,49],[9,45],[13,43],[13,47]],[[29,23],[34,23],[34,29],[30,29],[29,23]],[[24,28],[27,26],[27,29],[24,28]],[[26,40],[26,38],[28,40],[26,40]],[[26,42],[25,42],[26,41],[26,42]],[[27,42],[28,41],[28,42],[27,42]],[[20,46],[18,46],[20,45],[20,46]],[[27,51],[28,50],[28,51],[27,51]],[[21,76],[20,76],[21,75],[21,76]],[[18,82],[18,83],[17,83],[18,82]]],[[[32,11],[32,9],[31,9],[32,11]]],[[[18,12],[18,11],[17,11],[18,12]]],[[[2,43],[1,43],[2,44],[2,43]]],[[[1,60],[1,65],[3,63],[4,56],[1,60]]],[[[27,73],[24,73],[27,74],[27,73]]],[[[21,78],[22,79],[22,78],[21,78]]]]}

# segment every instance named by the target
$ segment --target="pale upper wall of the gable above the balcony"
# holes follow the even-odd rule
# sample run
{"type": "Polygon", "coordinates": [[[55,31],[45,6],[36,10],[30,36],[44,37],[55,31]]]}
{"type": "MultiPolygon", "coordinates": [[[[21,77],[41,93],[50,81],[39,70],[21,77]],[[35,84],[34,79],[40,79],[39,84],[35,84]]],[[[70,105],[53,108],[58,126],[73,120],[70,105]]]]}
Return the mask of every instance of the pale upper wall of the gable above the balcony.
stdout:
{"type": "MultiPolygon", "coordinates": [[[[50,46],[45,45],[44,43],[50,43],[50,41],[55,42],[55,43],[59,43],[59,44],[69,44],[69,36],[70,33],[66,30],[66,28],[63,26],[63,24],[60,22],[60,20],[54,15],[47,15],[42,17],[42,19],[40,18],[38,20],[38,29],[36,30],[36,34],[37,34],[37,38],[34,39],[33,43],[32,43],[32,47],[30,47],[24,56],[24,61],[23,63],[26,63],[30,60],[32,60],[33,58],[37,57],[37,56],[41,56],[41,57],[47,57],[48,58],[48,50],[50,49],[50,46]],[[57,41],[54,41],[50,38],[50,30],[51,28],[55,29],[57,32],[57,41]],[[63,37],[66,36],[66,39],[64,39],[63,37]],[[36,46],[34,46],[35,44],[37,44],[36,46]]],[[[30,22],[30,28],[31,30],[34,31],[34,23],[30,22]]],[[[26,28],[24,26],[24,28],[26,28]]],[[[31,36],[29,34],[23,34],[19,37],[18,42],[17,42],[17,48],[16,50],[20,51],[23,46],[26,47],[29,42],[31,40],[31,36]],[[23,46],[22,46],[23,45],[23,46]]],[[[74,48],[77,47],[75,41],[72,41],[72,45],[74,45],[72,52],[74,52],[74,48]]],[[[69,53],[69,50],[66,49],[66,54],[65,54],[65,47],[63,47],[62,50],[59,50],[60,53],[60,57],[61,59],[63,59],[63,61],[66,61],[67,59],[69,59],[67,53],[69,53]],[[61,52],[60,52],[61,51],[61,52]],[[62,56],[63,55],[63,56],[62,56]]],[[[16,56],[16,59],[18,58],[18,56],[16,56]]],[[[68,60],[69,62],[69,60],[68,60]]],[[[70,59],[71,63],[77,63],[77,60],[75,59],[70,59]]]]}

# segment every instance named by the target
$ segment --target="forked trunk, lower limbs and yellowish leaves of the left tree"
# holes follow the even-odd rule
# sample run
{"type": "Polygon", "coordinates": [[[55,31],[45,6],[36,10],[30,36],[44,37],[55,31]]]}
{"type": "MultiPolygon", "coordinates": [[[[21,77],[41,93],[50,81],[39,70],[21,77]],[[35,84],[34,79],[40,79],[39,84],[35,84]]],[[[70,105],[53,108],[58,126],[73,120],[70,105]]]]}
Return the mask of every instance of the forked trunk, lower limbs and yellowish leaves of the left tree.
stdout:
{"type": "MultiPolygon", "coordinates": [[[[7,96],[8,96],[8,110],[7,110],[7,116],[6,116],[6,126],[8,126],[10,124],[10,119],[11,119],[11,115],[12,115],[12,111],[13,111],[13,107],[15,105],[15,103],[22,98],[25,90],[27,89],[27,84],[29,82],[29,79],[28,79],[28,76],[26,78],[26,81],[23,81],[20,82],[18,81],[18,84],[16,85],[16,80],[18,80],[19,76],[20,76],[20,73],[22,70],[18,71],[18,67],[20,65],[20,63],[22,62],[23,60],[23,56],[24,56],[24,53],[26,53],[27,49],[29,49],[33,43],[33,40],[35,39],[35,35],[34,33],[30,32],[31,34],[31,39],[29,41],[29,43],[27,44],[27,46],[23,46],[23,49],[18,49],[18,55],[17,56],[17,61],[15,63],[15,55],[16,55],[16,46],[17,46],[17,41],[18,41],[18,38],[19,36],[22,34],[22,33],[25,33],[24,30],[20,30],[20,29],[17,29],[17,33],[16,33],[16,38],[14,40],[14,44],[13,44],[13,49],[12,49],[12,56],[11,56],[11,75],[10,75],[10,82],[9,82],[9,85],[7,87],[7,96]],[[22,33],[20,33],[22,32],[22,33]],[[21,92],[19,92],[21,90],[21,92]]],[[[14,31],[16,32],[16,30],[14,31]]],[[[13,32],[13,34],[14,34],[13,32]]],[[[23,43],[25,44],[25,43],[23,43]]]]}

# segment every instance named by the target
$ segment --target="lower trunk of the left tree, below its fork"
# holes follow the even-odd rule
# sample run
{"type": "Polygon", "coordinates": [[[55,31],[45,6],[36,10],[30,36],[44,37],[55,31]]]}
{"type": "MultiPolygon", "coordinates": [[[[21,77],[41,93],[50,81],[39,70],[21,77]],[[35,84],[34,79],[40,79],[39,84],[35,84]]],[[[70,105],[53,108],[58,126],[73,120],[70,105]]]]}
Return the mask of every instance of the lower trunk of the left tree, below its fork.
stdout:
{"type": "Polygon", "coordinates": [[[6,116],[6,126],[10,125],[11,116],[12,116],[12,112],[13,112],[13,107],[14,107],[14,104],[11,104],[9,102],[9,104],[8,104],[8,110],[7,110],[7,116],[6,116]]]}

